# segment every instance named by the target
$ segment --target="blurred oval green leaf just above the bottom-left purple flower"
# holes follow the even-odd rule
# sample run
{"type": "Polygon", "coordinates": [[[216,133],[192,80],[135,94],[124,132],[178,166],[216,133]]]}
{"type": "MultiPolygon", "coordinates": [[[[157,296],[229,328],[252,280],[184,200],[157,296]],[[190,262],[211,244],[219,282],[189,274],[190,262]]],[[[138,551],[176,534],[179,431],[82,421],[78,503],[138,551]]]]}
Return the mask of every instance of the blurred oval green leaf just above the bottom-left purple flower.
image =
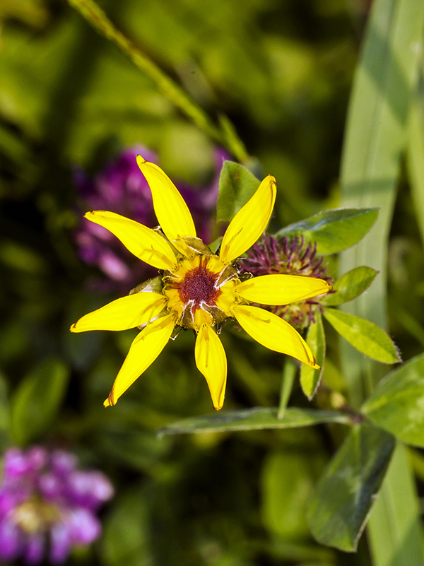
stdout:
{"type": "Polygon", "coordinates": [[[47,431],[64,399],[68,379],[66,365],[51,358],[20,382],[11,403],[11,428],[16,443],[28,444],[47,431]]]}

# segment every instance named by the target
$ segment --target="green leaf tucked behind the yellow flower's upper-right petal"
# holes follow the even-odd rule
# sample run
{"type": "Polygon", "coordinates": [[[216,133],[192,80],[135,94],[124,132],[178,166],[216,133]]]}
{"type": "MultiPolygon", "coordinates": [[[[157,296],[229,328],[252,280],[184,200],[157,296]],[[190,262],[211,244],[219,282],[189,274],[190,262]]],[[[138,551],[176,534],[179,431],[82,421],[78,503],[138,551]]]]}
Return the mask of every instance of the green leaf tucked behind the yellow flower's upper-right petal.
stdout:
{"type": "Polygon", "coordinates": [[[224,161],[219,176],[219,196],[216,220],[230,221],[257,191],[259,181],[252,173],[235,163],[224,161]]]}

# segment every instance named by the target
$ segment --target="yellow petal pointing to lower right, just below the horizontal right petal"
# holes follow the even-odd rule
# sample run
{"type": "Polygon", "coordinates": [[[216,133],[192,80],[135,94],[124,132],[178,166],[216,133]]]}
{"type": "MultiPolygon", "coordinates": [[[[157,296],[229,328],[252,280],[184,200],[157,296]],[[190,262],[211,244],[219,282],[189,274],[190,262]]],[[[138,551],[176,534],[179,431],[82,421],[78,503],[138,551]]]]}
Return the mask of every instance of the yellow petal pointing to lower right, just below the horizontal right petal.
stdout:
{"type": "Polygon", "coordinates": [[[298,331],[276,314],[245,305],[237,305],[233,312],[242,329],[265,348],[292,355],[310,367],[319,367],[310,347],[298,331]]]}

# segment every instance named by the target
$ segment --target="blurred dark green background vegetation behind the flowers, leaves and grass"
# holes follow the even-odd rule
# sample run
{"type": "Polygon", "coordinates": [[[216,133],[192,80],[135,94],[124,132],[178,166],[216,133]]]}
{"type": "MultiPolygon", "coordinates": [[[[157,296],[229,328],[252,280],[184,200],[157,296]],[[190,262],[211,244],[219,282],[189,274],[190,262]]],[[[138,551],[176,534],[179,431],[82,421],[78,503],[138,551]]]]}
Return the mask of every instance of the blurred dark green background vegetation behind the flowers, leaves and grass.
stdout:
{"type": "MultiPolygon", "coordinates": [[[[343,130],[368,4],[101,6],[211,117],[228,115],[257,158],[257,174],[277,179],[277,230],[340,205],[343,130]]],[[[142,143],[172,179],[200,186],[213,176],[216,144],[65,2],[1,0],[0,27],[1,444],[72,449],[117,490],[103,512],[102,539],[71,561],[369,564],[365,540],[356,555],[338,553],[313,541],[305,519],[341,430],[157,437],[172,420],[212,411],[189,332],[116,407],[102,407],[135,331],[69,333],[78,317],[116,297],[90,289],[95,269],[76,257],[72,233],[82,211],[73,167],[98,172],[119,148],[142,143]]],[[[424,345],[424,280],[404,177],[389,247],[389,305],[396,305],[389,312],[391,335],[408,359],[424,345]]],[[[222,337],[229,365],[223,411],[276,406],[281,356],[230,332],[222,337]]],[[[335,352],[331,333],[327,342],[335,352]]],[[[334,361],[325,378],[343,392],[334,361]]],[[[297,385],[292,401],[307,404],[297,385]]]]}

